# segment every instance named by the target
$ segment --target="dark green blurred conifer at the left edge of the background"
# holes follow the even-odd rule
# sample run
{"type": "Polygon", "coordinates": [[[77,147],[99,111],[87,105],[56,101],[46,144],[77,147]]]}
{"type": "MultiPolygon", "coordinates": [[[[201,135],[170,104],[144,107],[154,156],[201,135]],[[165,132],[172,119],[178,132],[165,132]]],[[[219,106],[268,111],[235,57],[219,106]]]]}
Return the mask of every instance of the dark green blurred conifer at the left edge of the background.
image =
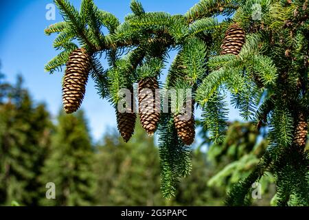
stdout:
{"type": "Polygon", "coordinates": [[[38,176],[47,155],[52,123],[34,104],[21,76],[14,86],[0,81],[0,204],[37,205],[38,176]]]}

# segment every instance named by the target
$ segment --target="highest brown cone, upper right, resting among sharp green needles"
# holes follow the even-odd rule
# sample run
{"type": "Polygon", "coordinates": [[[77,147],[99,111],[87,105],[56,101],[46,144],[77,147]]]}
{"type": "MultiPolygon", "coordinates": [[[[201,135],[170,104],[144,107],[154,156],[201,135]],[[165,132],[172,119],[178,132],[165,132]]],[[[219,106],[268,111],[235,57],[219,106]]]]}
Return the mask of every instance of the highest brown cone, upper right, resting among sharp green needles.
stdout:
{"type": "Polygon", "coordinates": [[[225,39],[221,45],[221,54],[238,55],[242,50],[242,45],[244,45],[245,36],[244,30],[237,23],[231,25],[225,33],[225,39]]]}

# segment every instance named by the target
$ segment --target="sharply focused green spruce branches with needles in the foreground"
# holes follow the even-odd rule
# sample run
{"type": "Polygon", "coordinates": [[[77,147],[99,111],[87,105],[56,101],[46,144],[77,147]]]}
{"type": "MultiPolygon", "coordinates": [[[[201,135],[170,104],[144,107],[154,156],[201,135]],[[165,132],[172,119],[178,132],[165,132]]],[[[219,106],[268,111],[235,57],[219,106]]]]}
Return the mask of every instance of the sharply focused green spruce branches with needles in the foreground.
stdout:
{"type": "MultiPolygon", "coordinates": [[[[222,142],[227,131],[229,91],[231,104],[244,120],[255,121],[258,127],[267,123],[271,131],[266,153],[253,173],[231,190],[227,204],[249,204],[251,184],[271,169],[279,206],[308,205],[307,0],[201,0],[185,14],[175,15],[146,12],[133,0],[133,13],[123,23],[91,0],[83,0],[80,11],[67,0],[55,3],[65,21],[45,33],[59,33],[54,47],[62,52],[45,69],[54,72],[67,63],[71,52],[84,48],[91,56],[91,76],[100,96],[116,109],[122,100],[120,89],[159,78],[168,52],[178,52],[163,85],[176,89],[177,104],[174,112],[161,113],[158,126],[164,197],[175,194],[178,179],[192,168],[188,145],[194,120],[184,126],[175,123],[175,116],[190,106],[178,91],[192,92],[192,104],[203,110],[205,129],[214,142],[222,142]],[[226,19],[219,23],[218,15],[226,19]],[[108,59],[106,69],[98,61],[102,53],[108,59]]],[[[84,65],[80,63],[80,68],[84,65]]]]}

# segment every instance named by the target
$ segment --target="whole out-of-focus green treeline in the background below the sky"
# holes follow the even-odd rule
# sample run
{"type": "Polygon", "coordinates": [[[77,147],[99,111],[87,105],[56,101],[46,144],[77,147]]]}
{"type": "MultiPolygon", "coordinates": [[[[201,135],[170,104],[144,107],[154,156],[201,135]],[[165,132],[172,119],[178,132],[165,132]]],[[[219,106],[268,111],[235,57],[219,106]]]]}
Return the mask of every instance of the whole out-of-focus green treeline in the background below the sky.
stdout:
{"type": "MultiPolygon", "coordinates": [[[[82,111],[60,111],[54,121],[20,76],[11,85],[0,74],[0,205],[221,206],[267,143],[250,123],[230,124],[220,145],[209,145],[207,133],[199,130],[205,142],[192,152],[192,174],[179,182],[174,199],[165,200],[159,151],[141,126],[128,144],[113,129],[93,143],[82,111]],[[48,182],[56,184],[56,199],[45,197],[48,182]]],[[[262,199],[255,205],[273,202],[272,182],[271,175],[262,178],[262,199]]]]}

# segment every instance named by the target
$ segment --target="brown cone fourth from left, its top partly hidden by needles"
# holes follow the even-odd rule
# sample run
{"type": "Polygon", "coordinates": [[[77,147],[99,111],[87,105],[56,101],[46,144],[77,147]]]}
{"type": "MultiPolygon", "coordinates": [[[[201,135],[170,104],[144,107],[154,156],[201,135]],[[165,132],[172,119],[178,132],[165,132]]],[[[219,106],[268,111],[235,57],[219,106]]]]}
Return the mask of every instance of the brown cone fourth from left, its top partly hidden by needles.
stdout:
{"type": "Polygon", "coordinates": [[[195,137],[195,120],[194,120],[194,107],[192,104],[192,115],[189,118],[184,117],[182,114],[174,115],[174,124],[176,127],[177,135],[181,138],[185,145],[191,145],[195,137]]]}

